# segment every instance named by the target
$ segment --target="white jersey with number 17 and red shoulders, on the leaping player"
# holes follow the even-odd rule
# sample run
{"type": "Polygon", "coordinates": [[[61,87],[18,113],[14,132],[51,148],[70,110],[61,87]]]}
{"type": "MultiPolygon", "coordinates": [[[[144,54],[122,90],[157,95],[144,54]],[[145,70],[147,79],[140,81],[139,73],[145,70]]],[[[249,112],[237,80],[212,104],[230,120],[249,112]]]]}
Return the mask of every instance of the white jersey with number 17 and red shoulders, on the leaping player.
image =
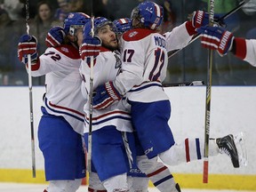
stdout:
{"type": "Polygon", "coordinates": [[[136,28],[122,37],[123,70],[114,82],[116,89],[133,101],[169,100],[162,87],[168,65],[167,52],[187,46],[192,39],[186,22],[164,36],[136,28]]]}

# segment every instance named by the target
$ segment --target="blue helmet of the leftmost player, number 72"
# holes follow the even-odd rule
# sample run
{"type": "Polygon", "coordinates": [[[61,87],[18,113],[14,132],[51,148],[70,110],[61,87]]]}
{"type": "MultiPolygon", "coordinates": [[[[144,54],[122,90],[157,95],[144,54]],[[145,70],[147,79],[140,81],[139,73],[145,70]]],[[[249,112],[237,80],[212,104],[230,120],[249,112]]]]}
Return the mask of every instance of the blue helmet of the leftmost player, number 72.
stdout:
{"type": "Polygon", "coordinates": [[[66,34],[74,36],[76,28],[84,28],[84,25],[90,20],[90,16],[84,12],[70,12],[64,20],[64,31],[66,34]]]}

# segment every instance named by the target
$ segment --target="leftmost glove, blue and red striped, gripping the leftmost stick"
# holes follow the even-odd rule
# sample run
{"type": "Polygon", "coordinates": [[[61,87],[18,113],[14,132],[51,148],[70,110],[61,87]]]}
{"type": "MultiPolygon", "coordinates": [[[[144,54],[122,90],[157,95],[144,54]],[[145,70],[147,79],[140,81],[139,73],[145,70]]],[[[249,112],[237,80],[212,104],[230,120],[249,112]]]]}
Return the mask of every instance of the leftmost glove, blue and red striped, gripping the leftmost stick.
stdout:
{"type": "Polygon", "coordinates": [[[18,58],[24,63],[28,64],[28,55],[31,56],[31,62],[36,62],[38,58],[37,40],[35,36],[23,35],[20,36],[18,44],[18,58]]]}

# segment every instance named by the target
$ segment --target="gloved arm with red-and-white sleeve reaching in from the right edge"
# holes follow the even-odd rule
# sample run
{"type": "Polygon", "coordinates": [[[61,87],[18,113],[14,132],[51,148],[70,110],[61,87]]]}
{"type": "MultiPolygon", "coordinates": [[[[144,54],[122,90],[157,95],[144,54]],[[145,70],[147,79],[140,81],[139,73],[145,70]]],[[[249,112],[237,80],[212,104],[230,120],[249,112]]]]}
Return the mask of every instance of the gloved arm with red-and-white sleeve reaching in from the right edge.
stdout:
{"type": "Polygon", "coordinates": [[[201,34],[201,44],[205,48],[216,50],[220,56],[232,52],[237,58],[249,62],[256,67],[256,40],[235,37],[225,28],[198,28],[201,34]]]}

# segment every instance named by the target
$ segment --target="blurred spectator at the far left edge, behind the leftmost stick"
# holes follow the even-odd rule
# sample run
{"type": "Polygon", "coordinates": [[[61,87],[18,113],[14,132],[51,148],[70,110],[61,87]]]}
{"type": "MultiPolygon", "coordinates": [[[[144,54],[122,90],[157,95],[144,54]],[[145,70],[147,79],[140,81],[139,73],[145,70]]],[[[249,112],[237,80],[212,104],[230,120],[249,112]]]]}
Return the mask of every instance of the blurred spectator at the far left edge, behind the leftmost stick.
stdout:
{"type": "MultiPolygon", "coordinates": [[[[20,34],[26,33],[24,4],[21,0],[2,0],[0,11],[0,70],[8,81],[5,85],[15,84],[18,77],[14,73],[20,70],[17,55],[17,41],[20,34]]],[[[24,68],[23,68],[24,71],[24,68]]],[[[17,75],[19,76],[19,75],[17,75]]],[[[20,76],[19,76],[20,78],[20,76]]]]}

